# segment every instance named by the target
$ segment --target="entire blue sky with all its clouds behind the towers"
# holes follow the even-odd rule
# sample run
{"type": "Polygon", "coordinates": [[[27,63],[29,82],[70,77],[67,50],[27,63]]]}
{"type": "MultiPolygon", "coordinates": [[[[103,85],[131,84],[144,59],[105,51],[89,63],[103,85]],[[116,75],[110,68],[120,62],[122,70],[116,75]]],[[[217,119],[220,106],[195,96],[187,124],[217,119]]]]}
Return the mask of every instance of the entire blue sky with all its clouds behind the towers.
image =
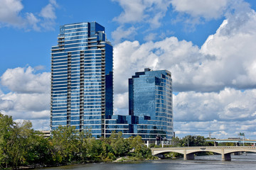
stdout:
{"type": "Polygon", "coordinates": [[[59,26],[97,21],[114,46],[114,112],[127,79],[169,69],[176,135],[256,138],[253,0],[0,0],[0,111],[49,129],[50,48],[59,26]],[[128,64],[127,64],[128,63],[128,64]]]}

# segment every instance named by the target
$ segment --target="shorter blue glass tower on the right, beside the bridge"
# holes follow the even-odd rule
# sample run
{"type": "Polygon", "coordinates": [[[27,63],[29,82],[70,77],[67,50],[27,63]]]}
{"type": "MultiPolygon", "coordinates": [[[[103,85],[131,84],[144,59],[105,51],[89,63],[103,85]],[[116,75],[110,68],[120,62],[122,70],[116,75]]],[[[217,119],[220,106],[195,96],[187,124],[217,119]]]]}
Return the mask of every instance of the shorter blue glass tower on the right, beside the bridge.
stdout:
{"type": "Polygon", "coordinates": [[[144,140],[171,140],[174,135],[171,72],[144,69],[129,79],[129,115],[137,118],[132,120],[134,134],[144,140]]]}

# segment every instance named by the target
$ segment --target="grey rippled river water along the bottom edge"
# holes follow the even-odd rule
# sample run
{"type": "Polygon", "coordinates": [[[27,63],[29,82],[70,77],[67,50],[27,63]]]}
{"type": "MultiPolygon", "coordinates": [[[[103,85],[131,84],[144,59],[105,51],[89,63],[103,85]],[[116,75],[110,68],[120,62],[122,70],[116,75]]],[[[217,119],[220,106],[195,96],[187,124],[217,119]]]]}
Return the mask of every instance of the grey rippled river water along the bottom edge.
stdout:
{"type": "Polygon", "coordinates": [[[58,166],[44,168],[46,170],[169,170],[169,169],[256,169],[256,154],[247,153],[247,155],[231,155],[231,162],[221,161],[221,155],[209,155],[195,157],[194,160],[183,159],[161,159],[156,161],[145,162],[127,162],[127,163],[98,163],[82,164],[70,166],[58,166]]]}

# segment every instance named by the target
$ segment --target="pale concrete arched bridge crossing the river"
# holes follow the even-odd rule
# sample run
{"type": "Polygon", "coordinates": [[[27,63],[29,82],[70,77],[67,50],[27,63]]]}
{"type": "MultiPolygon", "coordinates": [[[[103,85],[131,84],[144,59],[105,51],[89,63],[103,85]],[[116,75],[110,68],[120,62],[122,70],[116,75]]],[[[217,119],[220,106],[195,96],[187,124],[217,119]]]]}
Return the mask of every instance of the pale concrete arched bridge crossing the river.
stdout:
{"type": "Polygon", "coordinates": [[[221,154],[223,161],[231,161],[231,155],[235,152],[255,152],[256,147],[159,147],[151,148],[153,155],[176,152],[183,154],[184,159],[194,159],[196,152],[214,152],[221,154]]]}

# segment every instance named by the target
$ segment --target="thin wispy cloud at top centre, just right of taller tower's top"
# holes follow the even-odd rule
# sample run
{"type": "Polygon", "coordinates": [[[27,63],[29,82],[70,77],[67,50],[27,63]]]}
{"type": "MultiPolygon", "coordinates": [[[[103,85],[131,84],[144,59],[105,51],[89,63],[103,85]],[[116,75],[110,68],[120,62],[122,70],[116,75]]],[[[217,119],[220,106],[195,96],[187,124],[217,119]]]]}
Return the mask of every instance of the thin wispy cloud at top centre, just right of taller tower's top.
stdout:
{"type": "Polygon", "coordinates": [[[171,0],[113,1],[117,2],[124,10],[113,19],[113,21],[120,24],[119,28],[112,33],[115,43],[134,35],[134,32],[136,33],[137,30],[142,29],[144,24],[147,28],[143,27],[142,30],[159,28],[161,19],[164,18],[171,4],[171,0]],[[132,24],[132,26],[129,24],[132,24]]]}

